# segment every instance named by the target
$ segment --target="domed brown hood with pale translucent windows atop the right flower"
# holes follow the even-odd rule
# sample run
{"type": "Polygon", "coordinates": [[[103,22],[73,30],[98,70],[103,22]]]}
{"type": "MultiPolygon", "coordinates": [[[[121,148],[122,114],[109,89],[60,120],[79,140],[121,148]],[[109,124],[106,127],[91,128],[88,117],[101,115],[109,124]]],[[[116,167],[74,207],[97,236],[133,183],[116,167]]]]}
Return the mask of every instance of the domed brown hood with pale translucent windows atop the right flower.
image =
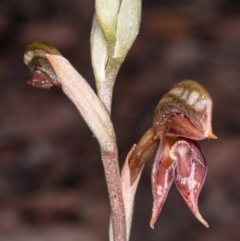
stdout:
{"type": "Polygon", "coordinates": [[[160,100],[153,127],[159,135],[216,139],[212,133],[211,113],[212,100],[208,91],[195,81],[184,80],[160,100]]]}

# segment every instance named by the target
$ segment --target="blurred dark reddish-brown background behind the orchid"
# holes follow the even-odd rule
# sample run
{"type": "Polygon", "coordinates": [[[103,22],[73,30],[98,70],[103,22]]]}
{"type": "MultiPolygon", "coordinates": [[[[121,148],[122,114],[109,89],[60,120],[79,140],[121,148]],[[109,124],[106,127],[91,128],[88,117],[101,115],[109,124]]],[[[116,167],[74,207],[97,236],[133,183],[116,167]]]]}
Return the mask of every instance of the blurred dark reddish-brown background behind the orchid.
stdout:
{"type": "MultiPolygon", "coordinates": [[[[35,89],[23,53],[32,41],[57,47],[94,87],[89,36],[94,1],[0,2],[0,239],[107,240],[109,204],[99,147],[59,88],[35,89]]],[[[240,240],[240,2],[143,1],[140,34],[113,100],[120,162],[152,123],[161,96],[185,78],[214,101],[218,140],[200,145],[208,176],[204,228],[172,187],[155,230],[150,173],[136,197],[132,241],[240,240]]]]}

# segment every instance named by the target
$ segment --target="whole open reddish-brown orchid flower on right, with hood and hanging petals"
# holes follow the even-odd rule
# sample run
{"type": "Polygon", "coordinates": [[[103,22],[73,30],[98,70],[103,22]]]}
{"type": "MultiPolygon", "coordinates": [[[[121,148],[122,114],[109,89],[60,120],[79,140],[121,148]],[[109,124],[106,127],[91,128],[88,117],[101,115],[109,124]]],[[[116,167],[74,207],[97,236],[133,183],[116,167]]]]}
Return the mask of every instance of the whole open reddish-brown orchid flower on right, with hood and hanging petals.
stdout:
{"type": "Polygon", "coordinates": [[[131,183],[140,175],[146,160],[155,154],[152,228],[173,181],[195,217],[208,227],[198,210],[207,164],[196,140],[217,138],[212,133],[211,118],[212,100],[208,91],[195,81],[184,80],[162,97],[153,126],[131,152],[128,159],[131,183]]]}

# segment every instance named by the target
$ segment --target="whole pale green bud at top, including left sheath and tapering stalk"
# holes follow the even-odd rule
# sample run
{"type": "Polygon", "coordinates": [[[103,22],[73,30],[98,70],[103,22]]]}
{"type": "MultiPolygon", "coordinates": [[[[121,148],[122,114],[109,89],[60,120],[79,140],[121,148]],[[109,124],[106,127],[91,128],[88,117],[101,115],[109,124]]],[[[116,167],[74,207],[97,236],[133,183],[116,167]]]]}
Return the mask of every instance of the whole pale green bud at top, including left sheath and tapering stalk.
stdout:
{"type": "Polygon", "coordinates": [[[97,93],[111,112],[113,87],[140,28],[141,0],[96,0],[91,59],[97,93]]]}

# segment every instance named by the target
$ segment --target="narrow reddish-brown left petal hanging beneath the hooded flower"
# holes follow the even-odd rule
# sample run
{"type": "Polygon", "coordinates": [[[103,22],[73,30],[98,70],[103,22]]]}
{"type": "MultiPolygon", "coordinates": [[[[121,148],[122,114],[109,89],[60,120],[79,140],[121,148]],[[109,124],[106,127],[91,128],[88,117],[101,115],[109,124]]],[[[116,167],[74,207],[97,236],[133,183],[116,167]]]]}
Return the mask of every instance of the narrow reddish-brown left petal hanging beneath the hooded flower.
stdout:
{"type": "Polygon", "coordinates": [[[154,160],[152,170],[152,193],[154,201],[150,221],[151,228],[154,228],[154,224],[162,210],[162,206],[174,180],[174,163],[169,157],[169,149],[168,142],[161,141],[154,160]]]}

